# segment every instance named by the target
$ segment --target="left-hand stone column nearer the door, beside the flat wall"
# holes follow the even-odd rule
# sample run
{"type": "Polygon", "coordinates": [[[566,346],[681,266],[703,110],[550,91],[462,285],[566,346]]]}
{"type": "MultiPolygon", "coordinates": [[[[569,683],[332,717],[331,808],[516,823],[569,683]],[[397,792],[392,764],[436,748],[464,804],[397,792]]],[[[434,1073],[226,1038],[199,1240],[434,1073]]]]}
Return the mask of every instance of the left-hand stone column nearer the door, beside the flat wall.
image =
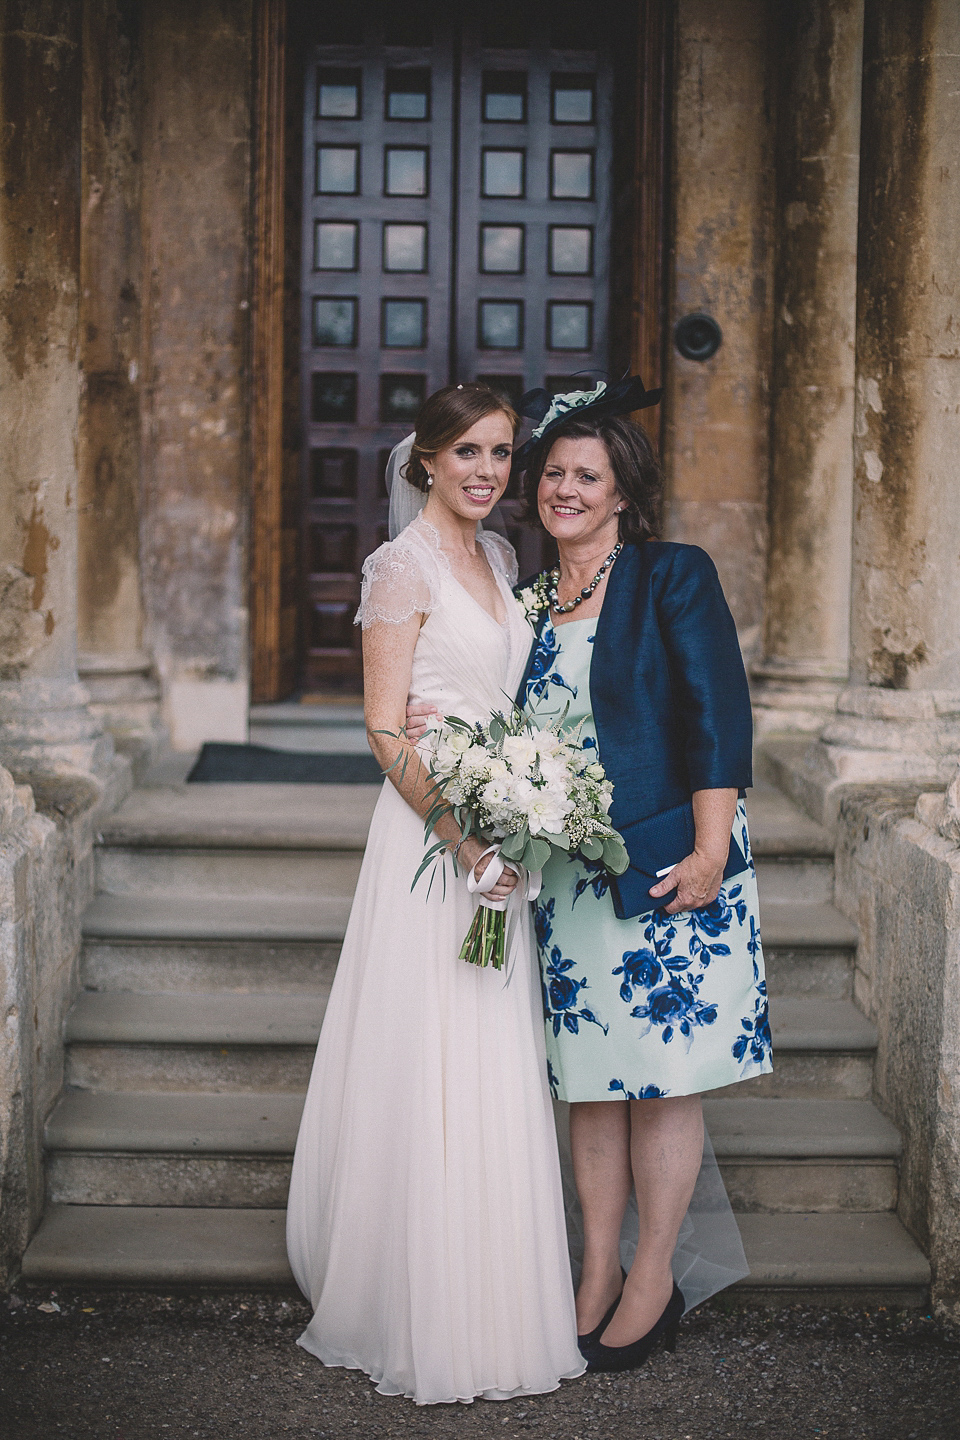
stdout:
{"type": "Polygon", "coordinates": [[[140,590],[140,19],[85,0],[82,40],[79,674],[114,740],[148,756],[160,685],[140,590]]]}

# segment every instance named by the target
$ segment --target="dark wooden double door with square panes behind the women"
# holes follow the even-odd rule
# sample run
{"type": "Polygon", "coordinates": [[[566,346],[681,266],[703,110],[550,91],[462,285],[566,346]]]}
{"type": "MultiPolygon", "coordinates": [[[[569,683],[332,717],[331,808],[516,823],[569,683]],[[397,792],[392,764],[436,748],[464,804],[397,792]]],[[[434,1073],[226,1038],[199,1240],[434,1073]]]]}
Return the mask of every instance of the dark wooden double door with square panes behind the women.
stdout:
{"type": "MultiPolygon", "coordinates": [[[[327,10],[327,7],[324,7],[327,10]]],[[[633,6],[354,3],[302,75],[301,687],[360,688],[363,560],[417,408],[630,363],[633,6]],[[625,63],[625,53],[629,60],[625,63]],[[619,120],[617,120],[619,115],[619,120]],[[620,141],[617,144],[617,135],[620,141]],[[626,137],[626,144],[625,144],[626,137]],[[613,323],[612,323],[613,307],[613,323]]],[[[655,376],[651,380],[656,379],[655,376]]],[[[541,537],[502,505],[524,566],[541,537]]]]}

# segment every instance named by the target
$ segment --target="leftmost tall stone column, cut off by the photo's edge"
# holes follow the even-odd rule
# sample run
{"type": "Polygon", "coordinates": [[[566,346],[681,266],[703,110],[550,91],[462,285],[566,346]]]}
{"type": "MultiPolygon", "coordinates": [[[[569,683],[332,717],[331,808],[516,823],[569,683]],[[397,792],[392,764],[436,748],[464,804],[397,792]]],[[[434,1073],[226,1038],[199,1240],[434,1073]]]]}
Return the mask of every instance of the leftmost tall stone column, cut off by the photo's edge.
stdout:
{"type": "Polygon", "coordinates": [[[0,760],[104,769],[76,678],[81,14],[0,3],[0,760]]]}

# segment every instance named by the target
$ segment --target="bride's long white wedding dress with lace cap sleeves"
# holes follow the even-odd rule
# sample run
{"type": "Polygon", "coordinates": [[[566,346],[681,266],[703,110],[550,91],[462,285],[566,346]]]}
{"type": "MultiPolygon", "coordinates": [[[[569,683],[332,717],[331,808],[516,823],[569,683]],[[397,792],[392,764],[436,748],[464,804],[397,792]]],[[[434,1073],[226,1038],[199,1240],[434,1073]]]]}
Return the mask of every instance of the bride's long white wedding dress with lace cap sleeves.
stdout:
{"type": "MultiPolygon", "coordinates": [[[[498,536],[498,625],[416,518],[364,564],[364,625],[415,612],[410,696],[468,720],[517,693],[531,631],[498,536]]],[[[286,1218],[314,1318],[299,1344],[420,1404],[505,1400],[580,1375],[530,906],[512,971],[459,959],[476,897],[427,896],[423,822],[390,780],[374,811],[307,1104],[286,1218]]]]}

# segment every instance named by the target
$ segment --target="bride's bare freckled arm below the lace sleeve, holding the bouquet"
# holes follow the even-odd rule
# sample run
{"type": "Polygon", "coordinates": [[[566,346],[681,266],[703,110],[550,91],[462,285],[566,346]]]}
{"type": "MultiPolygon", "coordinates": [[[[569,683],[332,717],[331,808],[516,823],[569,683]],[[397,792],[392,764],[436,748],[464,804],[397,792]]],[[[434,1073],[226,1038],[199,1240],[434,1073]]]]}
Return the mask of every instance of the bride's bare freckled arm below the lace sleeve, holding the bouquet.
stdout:
{"type": "MultiPolygon", "coordinates": [[[[412,740],[403,733],[406,723],[407,694],[413,672],[413,651],[420,634],[420,615],[399,625],[370,625],[363,632],[363,691],[364,723],[367,740],[381,770],[403,799],[425,819],[436,804],[436,792],[430,789],[430,772],[417,755],[412,740]]],[[[438,840],[453,850],[461,838],[459,825],[448,811],[433,827],[438,840]]],[[[478,860],[486,845],[471,837],[461,845],[458,861],[462,868],[476,865],[478,877],[489,864],[478,860]]],[[[491,890],[494,899],[502,899],[517,884],[517,876],[505,868],[491,890]]]]}

